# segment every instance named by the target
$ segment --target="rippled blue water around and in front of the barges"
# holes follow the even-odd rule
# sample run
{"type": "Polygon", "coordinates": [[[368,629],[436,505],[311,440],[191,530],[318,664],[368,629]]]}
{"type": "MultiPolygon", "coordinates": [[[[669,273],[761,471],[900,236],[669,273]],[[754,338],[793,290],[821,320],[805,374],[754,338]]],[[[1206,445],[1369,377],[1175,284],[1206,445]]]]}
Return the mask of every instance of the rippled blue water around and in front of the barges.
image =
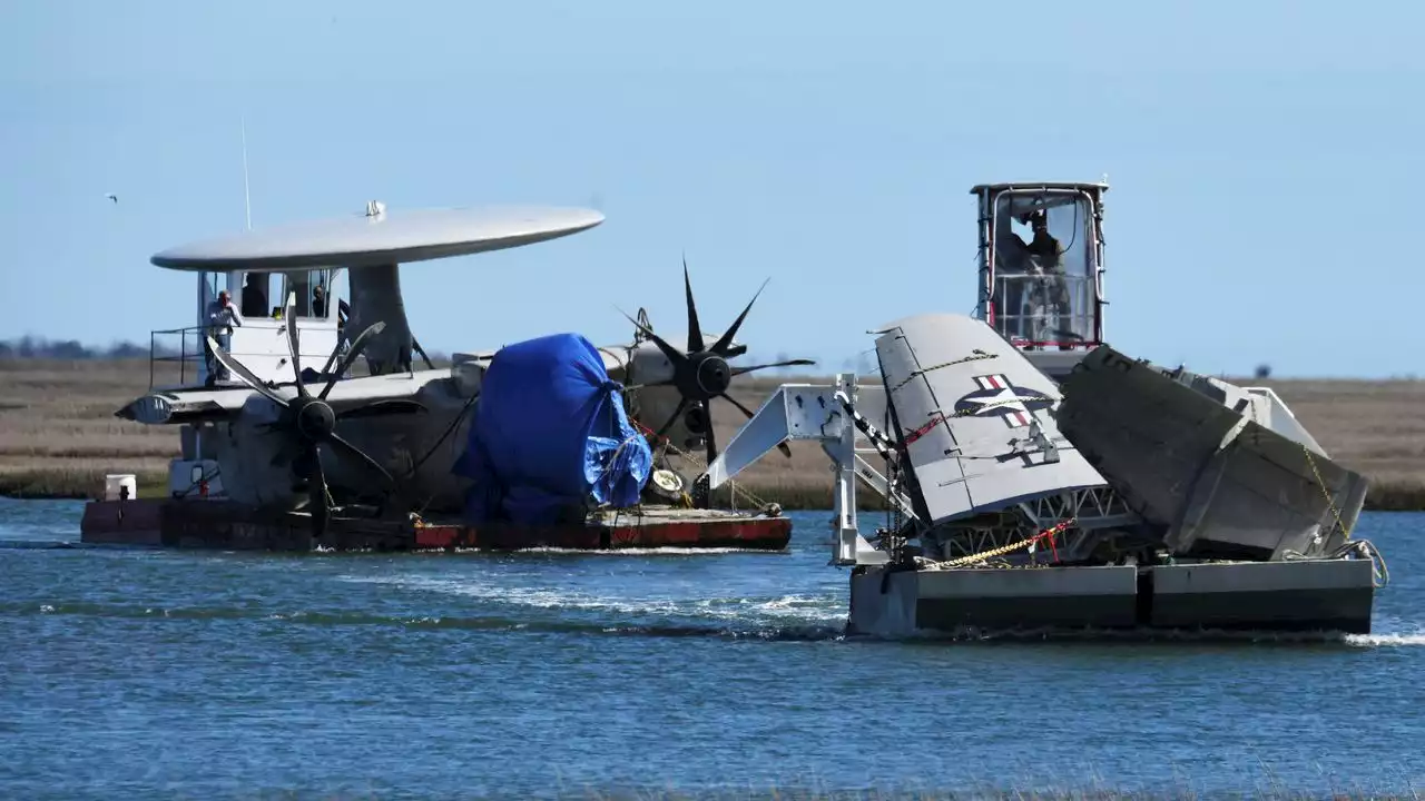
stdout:
{"type": "Polygon", "coordinates": [[[839,637],[792,553],[265,556],[28,547],[0,500],[0,797],[788,790],[1425,792],[1425,515],[1334,641],[839,637]]]}

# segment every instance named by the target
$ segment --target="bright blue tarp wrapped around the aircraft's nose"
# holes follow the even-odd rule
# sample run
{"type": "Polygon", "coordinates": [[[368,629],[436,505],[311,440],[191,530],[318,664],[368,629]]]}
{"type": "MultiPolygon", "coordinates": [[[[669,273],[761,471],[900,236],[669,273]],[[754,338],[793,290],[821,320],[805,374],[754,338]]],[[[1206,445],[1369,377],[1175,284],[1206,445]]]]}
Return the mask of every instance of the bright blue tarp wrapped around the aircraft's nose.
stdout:
{"type": "Polygon", "coordinates": [[[554,334],[507,345],[490,361],[453,469],[475,480],[470,523],[550,524],[586,502],[637,503],[653,452],[594,345],[554,334]]]}

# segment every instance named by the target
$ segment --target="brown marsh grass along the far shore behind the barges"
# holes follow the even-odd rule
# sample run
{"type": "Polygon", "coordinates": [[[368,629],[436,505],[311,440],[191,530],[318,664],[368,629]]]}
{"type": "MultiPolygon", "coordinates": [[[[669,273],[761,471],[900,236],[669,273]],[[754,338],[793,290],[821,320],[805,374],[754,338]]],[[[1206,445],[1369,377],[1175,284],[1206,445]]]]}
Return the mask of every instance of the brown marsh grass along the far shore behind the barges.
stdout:
{"type": "MultiPolygon", "coordinates": [[[[155,382],[177,383],[177,365],[160,363],[155,382]]],[[[0,359],[0,495],[87,497],[107,473],[134,473],[141,495],[165,485],[178,432],[120,420],[114,410],[148,391],[148,359],[0,359]]],[[[757,409],[784,381],[738,381],[731,395],[757,409]]],[[[1425,381],[1241,381],[1270,386],[1342,463],[1372,479],[1371,509],[1425,509],[1425,381]]],[[[718,442],[745,422],[731,403],[712,403],[718,442]]],[[[738,485],[784,509],[829,509],[831,467],[821,448],[791,443],[770,453],[738,485]]],[[[690,463],[690,473],[701,465],[690,463]]],[[[727,502],[727,490],[714,493],[727,502]]],[[[864,509],[882,509],[871,492],[864,509]]],[[[737,505],[752,503],[740,496],[737,505]]]]}

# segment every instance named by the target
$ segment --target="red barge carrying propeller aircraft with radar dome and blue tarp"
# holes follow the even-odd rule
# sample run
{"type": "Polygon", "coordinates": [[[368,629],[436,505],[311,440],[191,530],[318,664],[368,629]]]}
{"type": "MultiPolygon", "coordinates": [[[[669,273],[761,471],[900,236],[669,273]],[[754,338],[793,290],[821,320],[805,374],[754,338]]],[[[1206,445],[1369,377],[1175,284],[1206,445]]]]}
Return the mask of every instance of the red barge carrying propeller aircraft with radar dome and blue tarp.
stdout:
{"type": "Polygon", "coordinates": [[[178,426],[182,450],[162,497],[138,499],[133,476],[108,476],[105,497],[86,506],[83,542],[784,550],[791,520],[775,505],[711,509],[705,475],[688,480],[670,459],[698,463],[700,445],[703,465],[715,459],[710,402],[731,400],[734,375],[781,366],[728,365],[747,351],[734,336],[751,304],[727,332],[704,334],[687,265],[687,352],[656,335],[644,311],[631,343],[559,332],[455,353],[449,369],[412,334],[402,264],[530,245],[603,219],[580,208],[388,214],[370,202],[363,215],[154,255],[197,274],[197,321],[154,332],[150,391],[115,415],[178,426]],[[342,272],[349,301],[332,291],[342,272]],[[269,304],[269,291],[285,302],[269,304]],[[158,351],[161,336],[178,339],[175,356],[158,351]],[[178,382],[155,382],[172,362],[178,382]]]}

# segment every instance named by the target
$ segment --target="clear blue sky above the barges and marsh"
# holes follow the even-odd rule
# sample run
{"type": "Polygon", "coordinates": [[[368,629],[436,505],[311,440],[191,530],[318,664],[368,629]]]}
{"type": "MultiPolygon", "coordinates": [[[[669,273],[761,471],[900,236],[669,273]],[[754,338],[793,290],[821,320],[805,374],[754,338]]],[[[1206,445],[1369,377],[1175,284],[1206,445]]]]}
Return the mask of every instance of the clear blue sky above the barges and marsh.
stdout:
{"type": "Polygon", "coordinates": [[[429,349],[722,328],[839,368],[975,302],[972,184],[1109,174],[1109,339],[1208,372],[1421,372],[1425,4],[0,0],[0,338],[147,342],[244,224],[593,204],[405,268],[429,349]],[[120,197],[117,205],[105,192],[120,197]]]}

